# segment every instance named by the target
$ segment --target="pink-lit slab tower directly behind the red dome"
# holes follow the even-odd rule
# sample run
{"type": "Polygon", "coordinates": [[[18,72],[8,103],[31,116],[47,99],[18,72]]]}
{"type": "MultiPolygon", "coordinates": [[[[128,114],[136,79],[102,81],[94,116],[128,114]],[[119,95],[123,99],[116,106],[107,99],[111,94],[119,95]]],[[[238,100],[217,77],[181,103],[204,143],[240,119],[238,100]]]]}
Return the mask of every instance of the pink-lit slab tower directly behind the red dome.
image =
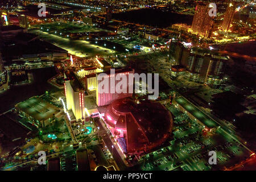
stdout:
{"type": "Polygon", "coordinates": [[[98,78],[98,74],[96,74],[96,102],[98,106],[109,105],[114,100],[133,96],[133,93],[129,93],[129,86],[133,86],[133,81],[129,81],[129,75],[134,73],[134,69],[115,69],[114,74],[110,71],[104,73],[105,76],[101,79],[98,78]],[[122,90],[126,90],[126,93],[119,92],[121,90],[116,90],[115,85],[120,82],[116,79],[118,74],[126,76],[126,82],[122,85],[125,86],[125,88],[121,88],[122,90]],[[107,86],[107,88],[105,88],[105,86],[107,86]]]}

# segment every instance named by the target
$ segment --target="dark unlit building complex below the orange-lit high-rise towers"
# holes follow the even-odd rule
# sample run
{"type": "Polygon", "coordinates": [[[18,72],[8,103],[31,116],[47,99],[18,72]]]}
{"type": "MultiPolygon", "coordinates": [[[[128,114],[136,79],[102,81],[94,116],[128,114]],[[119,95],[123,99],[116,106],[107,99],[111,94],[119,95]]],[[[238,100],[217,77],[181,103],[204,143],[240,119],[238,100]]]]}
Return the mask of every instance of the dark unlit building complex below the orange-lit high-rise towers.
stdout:
{"type": "Polygon", "coordinates": [[[221,56],[207,49],[191,48],[187,43],[172,42],[170,44],[170,76],[185,76],[188,80],[220,85],[224,81],[224,69],[228,56],[221,56]]]}

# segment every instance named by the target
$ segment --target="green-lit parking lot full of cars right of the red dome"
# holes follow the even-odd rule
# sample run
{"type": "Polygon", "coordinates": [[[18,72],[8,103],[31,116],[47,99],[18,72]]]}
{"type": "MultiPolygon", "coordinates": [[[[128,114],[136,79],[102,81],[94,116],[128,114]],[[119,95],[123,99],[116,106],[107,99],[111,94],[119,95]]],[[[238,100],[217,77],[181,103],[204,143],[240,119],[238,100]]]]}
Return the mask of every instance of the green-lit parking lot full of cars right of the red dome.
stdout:
{"type": "Polygon", "coordinates": [[[209,133],[173,105],[166,105],[174,114],[173,138],[166,146],[144,155],[142,170],[208,171],[231,167],[249,158],[250,152],[222,130],[209,133]],[[210,165],[209,151],[217,154],[217,164],[210,165]]]}

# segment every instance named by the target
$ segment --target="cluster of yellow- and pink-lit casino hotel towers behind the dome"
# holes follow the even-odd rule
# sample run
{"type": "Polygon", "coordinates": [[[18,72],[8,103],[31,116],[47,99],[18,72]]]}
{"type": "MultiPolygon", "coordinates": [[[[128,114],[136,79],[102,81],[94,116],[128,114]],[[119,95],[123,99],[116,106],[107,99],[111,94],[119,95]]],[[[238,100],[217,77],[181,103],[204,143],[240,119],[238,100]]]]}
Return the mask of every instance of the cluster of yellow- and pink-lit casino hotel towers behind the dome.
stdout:
{"type": "Polygon", "coordinates": [[[129,86],[132,86],[133,88],[133,81],[129,81],[129,75],[134,73],[134,69],[117,68],[114,69],[114,72],[114,74],[110,72],[110,70],[104,72],[103,67],[87,67],[76,71],[64,72],[64,89],[67,101],[66,109],[72,110],[76,121],[84,121],[86,117],[92,117],[92,115],[94,116],[97,114],[97,106],[109,105],[114,100],[133,96],[133,93],[129,93],[128,91],[129,86]],[[105,74],[105,77],[102,78],[102,80],[97,80],[100,73],[105,74]],[[120,82],[115,79],[118,73],[121,75],[121,80],[123,76],[127,78],[127,81],[125,82],[126,84],[123,84],[125,87],[121,86],[122,90],[119,89],[119,91],[123,91],[125,89],[126,93],[116,92],[118,90],[114,90],[114,93],[111,93],[110,91],[110,87],[112,86],[111,82],[113,80],[115,85],[120,82]],[[109,84],[106,84],[106,86],[108,86],[108,92],[101,93],[99,92],[98,85],[105,82],[109,82],[109,84]],[[94,106],[94,102],[91,100],[95,97],[97,105],[95,104],[94,106]]]}

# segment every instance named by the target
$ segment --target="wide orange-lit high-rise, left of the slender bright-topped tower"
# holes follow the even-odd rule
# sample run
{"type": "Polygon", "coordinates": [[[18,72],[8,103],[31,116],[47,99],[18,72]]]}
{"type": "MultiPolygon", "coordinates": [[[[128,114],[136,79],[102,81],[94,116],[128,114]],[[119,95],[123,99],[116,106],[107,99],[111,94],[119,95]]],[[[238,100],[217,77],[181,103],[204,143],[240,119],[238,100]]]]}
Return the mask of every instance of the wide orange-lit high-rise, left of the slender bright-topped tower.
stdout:
{"type": "Polygon", "coordinates": [[[205,38],[209,38],[212,32],[213,27],[213,18],[214,16],[209,16],[209,7],[208,3],[199,3],[196,5],[195,15],[193,16],[192,22],[192,33],[198,34],[205,38]]]}

